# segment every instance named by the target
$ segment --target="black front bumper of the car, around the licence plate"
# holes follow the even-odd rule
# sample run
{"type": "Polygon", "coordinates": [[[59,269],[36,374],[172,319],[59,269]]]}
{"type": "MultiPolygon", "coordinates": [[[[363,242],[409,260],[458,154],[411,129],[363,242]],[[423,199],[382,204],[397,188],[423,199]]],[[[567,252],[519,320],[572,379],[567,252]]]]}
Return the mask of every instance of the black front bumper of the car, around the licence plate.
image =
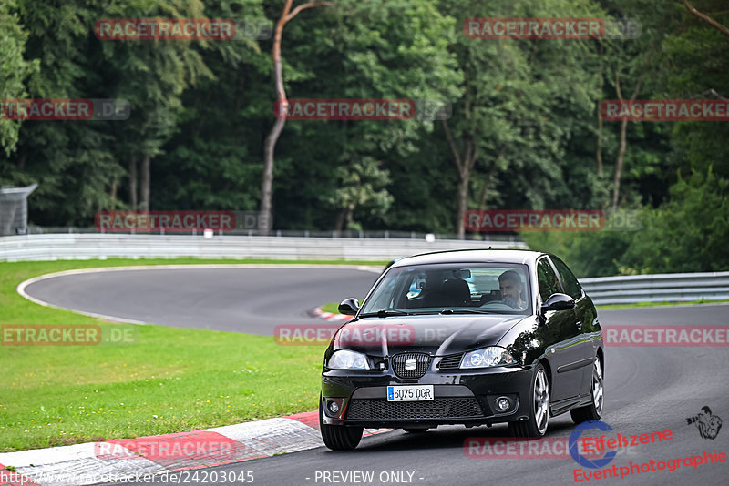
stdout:
{"type": "Polygon", "coordinates": [[[429,370],[419,379],[376,371],[326,370],[322,374],[323,422],[399,429],[527,420],[531,379],[530,367],[429,370]],[[433,385],[434,400],[387,401],[390,385],[433,385]],[[511,400],[508,410],[498,411],[495,402],[500,397],[511,400]],[[330,401],[337,403],[336,412],[328,408],[330,401]]]}

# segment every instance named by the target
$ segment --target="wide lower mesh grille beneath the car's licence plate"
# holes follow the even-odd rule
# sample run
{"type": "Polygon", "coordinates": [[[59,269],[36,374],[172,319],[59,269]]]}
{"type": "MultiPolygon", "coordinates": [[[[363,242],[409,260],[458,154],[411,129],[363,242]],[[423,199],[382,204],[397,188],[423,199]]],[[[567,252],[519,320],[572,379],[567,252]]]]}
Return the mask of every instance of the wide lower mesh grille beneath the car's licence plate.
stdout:
{"type": "Polygon", "coordinates": [[[473,398],[436,398],[429,401],[387,401],[354,399],[347,408],[351,420],[472,419],[483,417],[473,398]]]}

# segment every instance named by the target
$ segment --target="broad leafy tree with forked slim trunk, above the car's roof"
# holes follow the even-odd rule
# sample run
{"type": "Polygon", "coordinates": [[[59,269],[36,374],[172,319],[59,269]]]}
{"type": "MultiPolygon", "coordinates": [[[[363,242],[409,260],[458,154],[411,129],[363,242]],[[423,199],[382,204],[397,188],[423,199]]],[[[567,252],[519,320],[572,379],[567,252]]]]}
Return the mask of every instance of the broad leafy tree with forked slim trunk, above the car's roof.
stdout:
{"type": "MultiPolygon", "coordinates": [[[[461,20],[464,10],[469,17],[587,17],[599,11],[589,1],[500,2],[489,4],[488,10],[478,2],[442,5],[461,20]]],[[[544,207],[557,199],[555,193],[566,184],[561,160],[574,137],[591,123],[598,92],[587,40],[460,35],[451,48],[464,73],[463,96],[443,132],[458,177],[454,228],[463,237],[474,174],[480,179],[474,197],[479,207],[488,204],[485,187],[498,191],[497,178],[519,206],[544,207]]]]}

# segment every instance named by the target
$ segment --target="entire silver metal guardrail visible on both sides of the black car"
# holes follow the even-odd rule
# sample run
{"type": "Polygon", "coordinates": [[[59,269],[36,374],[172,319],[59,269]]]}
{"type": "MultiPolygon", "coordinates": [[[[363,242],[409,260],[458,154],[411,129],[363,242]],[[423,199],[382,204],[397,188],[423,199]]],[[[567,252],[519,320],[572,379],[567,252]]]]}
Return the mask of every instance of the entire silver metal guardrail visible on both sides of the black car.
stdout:
{"type": "MultiPolygon", "coordinates": [[[[0,238],[0,261],[180,257],[376,261],[489,247],[528,249],[522,241],[72,233],[0,238]]],[[[580,283],[596,305],[729,299],[729,272],[580,278],[580,283]]]]}

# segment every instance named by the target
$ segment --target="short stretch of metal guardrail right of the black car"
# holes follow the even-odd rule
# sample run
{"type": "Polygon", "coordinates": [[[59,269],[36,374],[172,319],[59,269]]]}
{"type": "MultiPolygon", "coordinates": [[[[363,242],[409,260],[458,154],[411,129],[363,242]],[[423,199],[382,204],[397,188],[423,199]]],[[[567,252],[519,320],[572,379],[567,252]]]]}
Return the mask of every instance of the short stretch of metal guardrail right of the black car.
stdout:
{"type": "Polygon", "coordinates": [[[729,272],[580,278],[595,305],[729,299],[729,272]]]}

